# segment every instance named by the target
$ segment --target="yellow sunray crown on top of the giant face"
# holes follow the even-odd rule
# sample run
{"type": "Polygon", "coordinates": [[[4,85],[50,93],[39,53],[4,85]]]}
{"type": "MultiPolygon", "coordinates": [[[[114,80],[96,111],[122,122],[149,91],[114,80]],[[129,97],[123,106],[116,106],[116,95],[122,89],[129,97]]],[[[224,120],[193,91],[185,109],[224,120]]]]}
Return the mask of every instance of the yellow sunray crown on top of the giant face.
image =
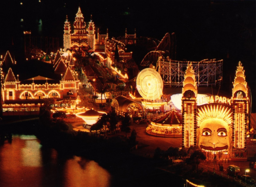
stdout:
{"type": "Polygon", "coordinates": [[[228,108],[224,105],[204,105],[201,107],[201,110],[198,108],[197,113],[197,125],[200,126],[200,124],[210,118],[218,118],[223,119],[228,125],[232,125],[232,112],[231,108],[228,108]]]}

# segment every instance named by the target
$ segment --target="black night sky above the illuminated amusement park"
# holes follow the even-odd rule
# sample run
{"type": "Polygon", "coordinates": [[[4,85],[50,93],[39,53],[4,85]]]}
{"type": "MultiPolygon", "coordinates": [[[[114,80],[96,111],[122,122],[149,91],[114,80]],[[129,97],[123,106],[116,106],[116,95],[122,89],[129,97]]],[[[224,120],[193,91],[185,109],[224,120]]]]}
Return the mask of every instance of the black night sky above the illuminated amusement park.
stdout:
{"type": "Polygon", "coordinates": [[[96,29],[105,34],[108,28],[111,37],[124,36],[125,28],[128,34],[133,34],[136,28],[138,37],[159,40],[167,32],[174,32],[177,39],[176,60],[223,59],[224,85],[234,80],[236,66],[241,61],[252,97],[256,99],[255,0],[1,1],[0,53],[4,55],[6,50],[10,50],[12,55],[18,56],[20,51],[23,52],[24,30],[31,30],[33,36],[58,37],[62,46],[66,15],[72,25],[78,6],[86,22],[92,14],[96,29]],[[24,21],[21,22],[21,19],[24,21]]]}

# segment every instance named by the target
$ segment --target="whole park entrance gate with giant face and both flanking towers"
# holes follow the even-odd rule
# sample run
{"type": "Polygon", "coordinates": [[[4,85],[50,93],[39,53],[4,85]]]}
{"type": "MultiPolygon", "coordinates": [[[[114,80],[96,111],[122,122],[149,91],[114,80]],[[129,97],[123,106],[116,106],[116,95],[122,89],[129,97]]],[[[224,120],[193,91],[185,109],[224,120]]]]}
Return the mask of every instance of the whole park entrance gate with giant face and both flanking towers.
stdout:
{"type": "Polygon", "coordinates": [[[232,97],[211,95],[199,106],[195,72],[190,64],[182,89],[182,147],[198,147],[208,159],[216,155],[220,159],[246,160],[246,139],[252,128],[249,92],[239,62],[232,97]]]}

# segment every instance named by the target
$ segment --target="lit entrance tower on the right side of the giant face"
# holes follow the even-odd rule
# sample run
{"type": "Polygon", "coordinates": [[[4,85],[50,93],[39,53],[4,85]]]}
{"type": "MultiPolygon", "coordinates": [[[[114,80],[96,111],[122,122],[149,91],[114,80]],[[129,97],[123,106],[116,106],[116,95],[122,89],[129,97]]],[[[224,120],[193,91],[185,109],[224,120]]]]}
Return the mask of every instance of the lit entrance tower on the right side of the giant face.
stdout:
{"type": "Polygon", "coordinates": [[[237,66],[232,89],[233,147],[246,149],[246,130],[249,129],[250,100],[242,63],[237,66]]]}

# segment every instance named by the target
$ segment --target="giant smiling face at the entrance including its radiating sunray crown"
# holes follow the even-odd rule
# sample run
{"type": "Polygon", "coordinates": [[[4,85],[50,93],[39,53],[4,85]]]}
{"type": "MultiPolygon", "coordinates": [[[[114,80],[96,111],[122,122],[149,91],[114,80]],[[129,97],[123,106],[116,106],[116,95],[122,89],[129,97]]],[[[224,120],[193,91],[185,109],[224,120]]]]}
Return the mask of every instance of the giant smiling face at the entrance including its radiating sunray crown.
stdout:
{"type": "Polygon", "coordinates": [[[232,108],[219,103],[197,110],[197,145],[205,151],[230,151],[232,147],[232,108]]]}

